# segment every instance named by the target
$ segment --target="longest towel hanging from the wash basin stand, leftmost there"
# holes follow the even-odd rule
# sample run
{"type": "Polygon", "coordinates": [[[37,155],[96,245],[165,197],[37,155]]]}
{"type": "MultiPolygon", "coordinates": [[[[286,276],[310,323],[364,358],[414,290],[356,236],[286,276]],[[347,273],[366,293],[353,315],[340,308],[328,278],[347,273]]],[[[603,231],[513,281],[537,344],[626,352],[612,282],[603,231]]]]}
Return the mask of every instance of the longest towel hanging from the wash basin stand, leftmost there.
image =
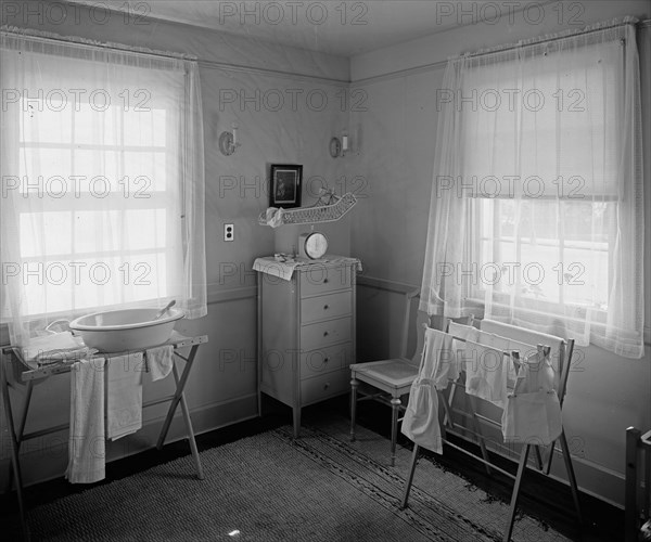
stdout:
{"type": "Polygon", "coordinates": [[[71,366],[71,483],[93,483],[105,476],[104,359],[81,360],[71,366]]]}

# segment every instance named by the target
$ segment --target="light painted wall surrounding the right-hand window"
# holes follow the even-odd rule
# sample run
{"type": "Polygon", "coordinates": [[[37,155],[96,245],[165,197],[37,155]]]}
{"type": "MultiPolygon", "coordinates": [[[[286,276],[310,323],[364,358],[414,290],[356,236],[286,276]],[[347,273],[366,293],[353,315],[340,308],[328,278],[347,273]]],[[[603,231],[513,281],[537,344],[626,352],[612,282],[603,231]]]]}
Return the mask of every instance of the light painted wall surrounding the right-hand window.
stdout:
{"type": "MultiPolygon", "coordinates": [[[[366,92],[368,105],[368,111],[350,114],[350,130],[358,134],[361,146],[349,160],[349,175],[366,178],[367,197],[360,199],[352,217],[352,253],[363,262],[365,274],[383,284],[421,284],[436,139],[435,94],[448,56],[572,28],[576,22],[585,26],[616,16],[643,20],[651,15],[649,1],[575,4],[580,7],[580,15],[577,11],[561,12],[559,3],[552,2],[545,5],[546,16],[538,24],[527,23],[519,12],[513,14],[513,25],[509,17],[497,24],[469,24],[352,59],[353,88],[366,92]],[[559,13],[565,14],[561,21],[559,13]]],[[[651,126],[650,41],[651,29],[646,28],[639,42],[647,138],[651,126]]],[[[650,140],[646,141],[646,232],[651,238],[651,156],[650,140]]],[[[646,260],[646,284],[650,284],[648,253],[646,260]]],[[[647,328],[651,321],[649,294],[647,328]]],[[[360,358],[396,356],[400,298],[372,286],[360,288],[360,358]]],[[[621,505],[625,430],[628,426],[642,430],[651,427],[651,347],[647,346],[640,360],[620,358],[596,347],[579,349],[575,356],[583,361],[570,375],[564,421],[578,483],[621,505]]],[[[499,435],[494,437],[501,441],[499,435]]],[[[554,473],[564,476],[562,461],[557,461],[556,467],[560,468],[554,473]]]]}

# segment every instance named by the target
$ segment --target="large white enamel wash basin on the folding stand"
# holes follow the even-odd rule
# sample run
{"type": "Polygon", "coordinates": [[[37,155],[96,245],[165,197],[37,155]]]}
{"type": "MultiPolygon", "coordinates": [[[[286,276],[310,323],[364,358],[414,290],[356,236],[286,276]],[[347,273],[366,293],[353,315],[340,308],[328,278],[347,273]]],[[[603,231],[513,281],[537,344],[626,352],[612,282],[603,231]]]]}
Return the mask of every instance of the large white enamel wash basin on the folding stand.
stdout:
{"type": "Polygon", "coordinates": [[[176,324],[186,315],[182,310],[169,309],[154,321],[159,309],[124,309],[94,312],[71,322],[86,346],[102,352],[142,350],[165,343],[176,324]]]}

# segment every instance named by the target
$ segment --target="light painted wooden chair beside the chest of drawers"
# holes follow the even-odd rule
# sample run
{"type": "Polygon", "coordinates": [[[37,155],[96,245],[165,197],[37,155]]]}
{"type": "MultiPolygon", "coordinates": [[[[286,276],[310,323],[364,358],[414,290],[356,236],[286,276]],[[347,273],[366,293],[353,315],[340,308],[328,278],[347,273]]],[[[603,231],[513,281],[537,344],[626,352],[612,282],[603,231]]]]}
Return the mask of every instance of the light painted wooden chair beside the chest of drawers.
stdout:
{"type": "MultiPolygon", "coordinates": [[[[409,321],[411,302],[418,298],[420,289],[405,294],[405,313],[400,336],[399,358],[355,363],[350,365],[350,440],[355,440],[355,422],[357,402],[375,400],[392,408],[391,425],[391,465],[395,465],[396,440],[398,436],[398,422],[400,412],[405,411],[401,397],[409,393],[411,384],[418,376],[420,356],[424,333],[422,325],[418,325],[418,344],[412,359],[407,358],[407,341],[409,337],[409,321]],[[361,386],[360,386],[361,383],[361,386]],[[359,396],[362,396],[359,398],[359,396]]],[[[427,319],[426,314],[419,313],[419,319],[427,319]]]]}

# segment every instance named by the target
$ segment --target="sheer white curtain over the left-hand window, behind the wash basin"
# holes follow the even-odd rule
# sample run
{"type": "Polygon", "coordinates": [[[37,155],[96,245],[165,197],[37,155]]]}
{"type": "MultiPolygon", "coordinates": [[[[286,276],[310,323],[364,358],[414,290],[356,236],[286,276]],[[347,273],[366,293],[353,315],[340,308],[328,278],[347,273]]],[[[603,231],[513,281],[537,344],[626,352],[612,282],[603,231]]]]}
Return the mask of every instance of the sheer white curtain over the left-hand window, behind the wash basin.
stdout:
{"type": "Polygon", "coordinates": [[[196,62],[3,31],[2,312],[56,319],[176,299],[206,314],[196,62]]]}

